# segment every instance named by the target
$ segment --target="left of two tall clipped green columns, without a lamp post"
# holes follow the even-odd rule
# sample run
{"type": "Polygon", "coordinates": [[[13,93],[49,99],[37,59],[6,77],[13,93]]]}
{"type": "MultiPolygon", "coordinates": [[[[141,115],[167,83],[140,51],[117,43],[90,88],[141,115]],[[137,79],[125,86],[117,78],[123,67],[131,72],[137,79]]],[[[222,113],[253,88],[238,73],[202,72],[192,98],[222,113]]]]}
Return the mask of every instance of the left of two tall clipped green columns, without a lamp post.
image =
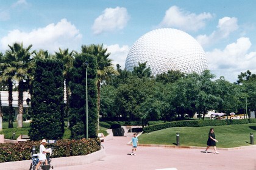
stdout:
{"type": "Polygon", "coordinates": [[[36,63],[31,97],[31,140],[57,140],[63,137],[63,63],[39,60],[36,63]]]}

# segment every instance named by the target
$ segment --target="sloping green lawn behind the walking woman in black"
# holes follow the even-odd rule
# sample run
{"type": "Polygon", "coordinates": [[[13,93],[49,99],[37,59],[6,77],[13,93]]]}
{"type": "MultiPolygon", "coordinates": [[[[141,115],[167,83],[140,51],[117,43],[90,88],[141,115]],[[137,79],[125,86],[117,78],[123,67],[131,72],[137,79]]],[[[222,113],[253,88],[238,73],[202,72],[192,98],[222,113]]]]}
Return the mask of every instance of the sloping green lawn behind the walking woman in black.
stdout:
{"type": "MultiPolygon", "coordinates": [[[[211,126],[212,127],[212,126],[211,126]]],[[[251,145],[250,133],[256,134],[256,123],[213,126],[218,148],[233,148],[251,145]]],[[[206,127],[171,127],[149,134],[141,134],[139,143],[176,144],[179,133],[180,146],[206,146],[210,126],[206,127]]]]}

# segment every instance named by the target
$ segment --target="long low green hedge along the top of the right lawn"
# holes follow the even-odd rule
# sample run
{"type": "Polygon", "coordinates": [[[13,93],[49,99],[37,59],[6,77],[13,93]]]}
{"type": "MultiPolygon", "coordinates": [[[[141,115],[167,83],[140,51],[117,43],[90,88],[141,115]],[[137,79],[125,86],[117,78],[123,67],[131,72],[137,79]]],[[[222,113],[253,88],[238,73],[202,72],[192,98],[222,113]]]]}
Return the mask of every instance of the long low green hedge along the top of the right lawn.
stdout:
{"type": "Polygon", "coordinates": [[[202,126],[223,126],[228,124],[247,124],[256,123],[255,118],[251,119],[233,119],[233,120],[190,120],[190,121],[172,121],[168,123],[153,124],[146,126],[143,133],[158,131],[169,127],[202,127],[202,126]]]}

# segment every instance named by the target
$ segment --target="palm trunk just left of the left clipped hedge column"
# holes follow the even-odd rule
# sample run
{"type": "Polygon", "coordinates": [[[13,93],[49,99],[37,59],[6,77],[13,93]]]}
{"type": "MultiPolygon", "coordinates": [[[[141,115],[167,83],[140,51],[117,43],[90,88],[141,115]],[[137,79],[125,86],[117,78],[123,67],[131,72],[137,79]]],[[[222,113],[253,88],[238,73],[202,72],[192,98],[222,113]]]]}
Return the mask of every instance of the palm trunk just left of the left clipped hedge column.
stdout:
{"type": "Polygon", "coordinates": [[[23,127],[23,81],[18,86],[18,126],[23,127]]]}

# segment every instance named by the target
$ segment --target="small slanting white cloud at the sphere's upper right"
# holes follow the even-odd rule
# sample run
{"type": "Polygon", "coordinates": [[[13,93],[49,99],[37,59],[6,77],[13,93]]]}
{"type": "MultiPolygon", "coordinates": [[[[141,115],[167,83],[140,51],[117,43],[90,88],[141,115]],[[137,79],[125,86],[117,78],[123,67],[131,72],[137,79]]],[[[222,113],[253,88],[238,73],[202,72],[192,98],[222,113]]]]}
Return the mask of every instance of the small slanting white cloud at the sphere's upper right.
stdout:
{"type": "Polygon", "coordinates": [[[199,35],[197,36],[197,41],[202,46],[208,46],[214,44],[221,39],[227,38],[230,33],[238,29],[237,18],[224,17],[219,19],[217,30],[210,35],[199,35]]]}

